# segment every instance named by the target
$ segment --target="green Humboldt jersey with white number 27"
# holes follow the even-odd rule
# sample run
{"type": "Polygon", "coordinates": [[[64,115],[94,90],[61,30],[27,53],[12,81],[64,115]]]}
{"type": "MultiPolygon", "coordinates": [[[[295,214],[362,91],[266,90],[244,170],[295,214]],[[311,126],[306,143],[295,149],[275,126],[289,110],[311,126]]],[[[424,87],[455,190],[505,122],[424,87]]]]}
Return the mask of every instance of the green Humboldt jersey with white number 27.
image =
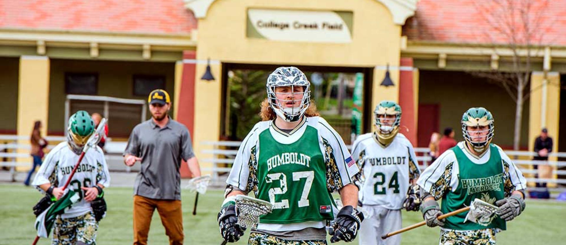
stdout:
{"type": "Polygon", "coordinates": [[[258,198],[269,200],[273,211],[262,223],[332,220],[332,198],[326,190],[326,169],[315,128],[307,126],[298,141],[284,145],[271,132],[259,135],[258,198]],[[315,140],[313,140],[315,139],[315,140]],[[288,210],[293,212],[289,212],[288,210]]]}

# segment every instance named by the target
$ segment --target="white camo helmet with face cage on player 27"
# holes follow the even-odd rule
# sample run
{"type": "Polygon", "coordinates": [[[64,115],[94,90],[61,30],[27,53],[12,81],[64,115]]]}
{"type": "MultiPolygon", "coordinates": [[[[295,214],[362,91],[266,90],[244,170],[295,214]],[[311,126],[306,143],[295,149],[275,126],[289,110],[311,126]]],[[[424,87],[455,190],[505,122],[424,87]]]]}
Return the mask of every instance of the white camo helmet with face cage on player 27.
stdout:
{"type": "MultiPolygon", "coordinates": [[[[305,115],[308,105],[311,100],[311,83],[307,80],[307,76],[297,67],[279,67],[273,71],[269,77],[267,77],[267,98],[269,101],[269,106],[275,111],[277,116],[288,122],[297,121],[305,115]],[[298,107],[284,107],[282,103],[294,102],[294,100],[277,99],[275,94],[275,87],[286,87],[291,86],[291,92],[285,93],[290,94],[291,98],[294,95],[294,86],[302,86],[303,99],[298,107]]],[[[282,93],[278,93],[282,94],[282,93]]]]}

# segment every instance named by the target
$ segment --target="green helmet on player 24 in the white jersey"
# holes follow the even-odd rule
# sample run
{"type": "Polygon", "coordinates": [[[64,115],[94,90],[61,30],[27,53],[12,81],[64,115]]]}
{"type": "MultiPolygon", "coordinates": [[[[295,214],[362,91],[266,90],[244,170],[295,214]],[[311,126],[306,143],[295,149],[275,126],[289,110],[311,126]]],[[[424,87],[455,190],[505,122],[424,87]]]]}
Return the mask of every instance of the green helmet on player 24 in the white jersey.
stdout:
{"type": "Polygon", "coordinates": [[[391,100],[383,100],[375,107],[375,126],[376,136],[382,145],[389,145],[393,138],[399,132],[399,125],[401,124],[401,106],[391,100]],[[392,124],[384,124],[379,119],[381,115],[395,115],[392,124]]]}

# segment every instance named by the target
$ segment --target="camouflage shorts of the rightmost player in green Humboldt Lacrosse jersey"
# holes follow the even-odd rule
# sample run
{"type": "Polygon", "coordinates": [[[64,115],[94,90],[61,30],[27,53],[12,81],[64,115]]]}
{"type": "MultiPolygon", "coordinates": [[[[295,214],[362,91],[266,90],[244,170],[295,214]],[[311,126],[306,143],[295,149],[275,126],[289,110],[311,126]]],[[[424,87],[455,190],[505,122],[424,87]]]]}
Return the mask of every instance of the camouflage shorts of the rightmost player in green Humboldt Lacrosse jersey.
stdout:
{"type": "Polygon", "coordinates": [[[440,230],[440,245],[495,245],[495,229],[440,230]]]}

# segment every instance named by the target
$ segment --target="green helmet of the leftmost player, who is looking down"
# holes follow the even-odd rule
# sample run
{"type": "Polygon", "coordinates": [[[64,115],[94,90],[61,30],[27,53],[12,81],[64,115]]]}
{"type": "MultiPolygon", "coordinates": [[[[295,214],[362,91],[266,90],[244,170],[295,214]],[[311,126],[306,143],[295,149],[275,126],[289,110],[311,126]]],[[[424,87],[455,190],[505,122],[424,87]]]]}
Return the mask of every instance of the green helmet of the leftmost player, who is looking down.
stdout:
{"type": "Polygon", "coordinates": [[[75,153],[80,153],[88,138],[95,132],[95,122],[86,111],[75,112],[69,117],[67,128],[67,142],[75,153]]]}

